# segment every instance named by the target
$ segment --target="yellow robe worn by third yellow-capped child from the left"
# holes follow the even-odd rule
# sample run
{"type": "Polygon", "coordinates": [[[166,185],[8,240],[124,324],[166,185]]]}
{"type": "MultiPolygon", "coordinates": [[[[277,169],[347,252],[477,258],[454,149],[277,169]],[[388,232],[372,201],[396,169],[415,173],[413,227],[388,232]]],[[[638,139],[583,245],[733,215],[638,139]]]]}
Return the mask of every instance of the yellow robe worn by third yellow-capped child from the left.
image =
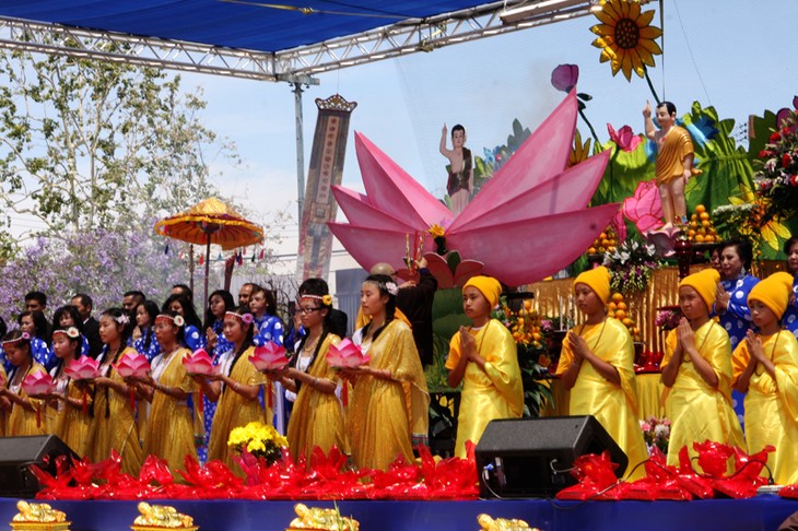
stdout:
{"type": "MultiPolygon", "coordinates": [[[[665,366],[677,346],[678,329],[665,340],[665,366]]],[[[695,370],[690,356],[683,353],[673,387],[666,399],[665,410],[671,420],[668,464],[679,464],[679,450],[688,447],[690,457],[697,452],[693,442],[714,440],[744,448],[740,421],[731,408],[731,343],[726,330],[709,320],[695,331],[695,346],[718,378],[717,389],[711,387],[695,370]]]]}

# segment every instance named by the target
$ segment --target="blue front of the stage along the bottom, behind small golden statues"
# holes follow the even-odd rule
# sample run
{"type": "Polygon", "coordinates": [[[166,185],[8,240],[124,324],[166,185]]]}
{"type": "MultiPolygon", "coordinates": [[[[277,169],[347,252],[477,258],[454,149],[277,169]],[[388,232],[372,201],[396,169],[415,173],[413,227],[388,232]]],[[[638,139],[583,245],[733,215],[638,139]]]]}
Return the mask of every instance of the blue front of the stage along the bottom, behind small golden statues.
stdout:
{"type": "MultiPolygon", "coordinates": [[[[137,502],[47,502],[64,511],[72,531],[122,531],[138,515],[137,502]]],[[[193,517],[200,531],[283,531],[294,518],[295,502],[166,500],[193,517]]],[[[302,502],[332,507],[329,502],[302,502]]],[[[362,531],[470,531],[479,529],[477,515],[520,518],[544,531],[582,530],[724,530],[775,531],[798,500],[777,496],[752,499],[694,502],[340,502],[343,516],[352,516],[362,531]]],[[[0,498],[0,527],[16,514],[16,500],[0,498]]]]}

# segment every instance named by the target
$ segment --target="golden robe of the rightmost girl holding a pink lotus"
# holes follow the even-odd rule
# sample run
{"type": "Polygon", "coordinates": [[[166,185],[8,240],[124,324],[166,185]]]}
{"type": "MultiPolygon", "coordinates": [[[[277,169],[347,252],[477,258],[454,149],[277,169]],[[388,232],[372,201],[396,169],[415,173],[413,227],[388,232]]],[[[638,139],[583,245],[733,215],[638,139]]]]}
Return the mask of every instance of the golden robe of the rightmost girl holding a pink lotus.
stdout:
{"type": "Polygon", "coordinates": [[[390,321],[368,346],[368,355],[369,365],[388,369],[392,379],[357,378],[349,401],[352,460],[359,468],[386,470],[399,456],[412,462],[412,437],[427,436],[430,393],[413,333],[404,322],[390,321]]]}

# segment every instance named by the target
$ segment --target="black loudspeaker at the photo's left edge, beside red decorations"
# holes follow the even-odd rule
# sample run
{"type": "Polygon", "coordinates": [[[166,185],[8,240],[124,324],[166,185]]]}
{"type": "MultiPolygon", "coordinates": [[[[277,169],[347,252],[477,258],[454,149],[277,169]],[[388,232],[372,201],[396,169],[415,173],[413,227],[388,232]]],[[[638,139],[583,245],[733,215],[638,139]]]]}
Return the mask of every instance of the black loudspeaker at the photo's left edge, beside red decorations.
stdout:
{"type": "Polygon", "coordinates": [[[55,435],[0,437],[0,497],[33,498],[40,486],[28,465],[37,464],[55,476],[60,456],[78,459],[55,435]]]}

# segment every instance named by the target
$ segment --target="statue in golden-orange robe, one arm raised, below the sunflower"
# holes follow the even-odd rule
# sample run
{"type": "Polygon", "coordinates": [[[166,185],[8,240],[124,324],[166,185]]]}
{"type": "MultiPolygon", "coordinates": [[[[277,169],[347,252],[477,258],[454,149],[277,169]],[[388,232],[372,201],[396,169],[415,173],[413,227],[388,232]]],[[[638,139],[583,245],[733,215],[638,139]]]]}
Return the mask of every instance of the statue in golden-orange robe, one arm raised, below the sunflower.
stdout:
{"type": "Polygon", "coordinates": [[[673,227],[673,223],[688,223],[688,206],[684,200],[684,188],[690,177],[702,172],[693,167],[693,142],[686,129],[676,125],[676,105],[662,102],[657,105],[657,122],[652,120],[652,104],[646,102],[643,109],[646,137],[657,143],[656,182],[659,199],[662,202],[665,226],[673,227]]]}

